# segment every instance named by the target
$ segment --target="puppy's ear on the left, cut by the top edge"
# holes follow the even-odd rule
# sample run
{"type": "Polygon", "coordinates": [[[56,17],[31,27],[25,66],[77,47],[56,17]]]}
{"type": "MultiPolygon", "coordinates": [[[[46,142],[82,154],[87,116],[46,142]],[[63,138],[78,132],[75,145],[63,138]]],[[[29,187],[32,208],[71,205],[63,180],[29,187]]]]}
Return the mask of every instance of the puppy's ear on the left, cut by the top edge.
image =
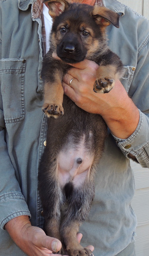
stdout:
{"type": "Polygon", "coordinates": [[[65,0],[44,0],[43,3],[48,3],[49,15],[53,19],[59,16],[69,6],[69,3],[65,0]]]}

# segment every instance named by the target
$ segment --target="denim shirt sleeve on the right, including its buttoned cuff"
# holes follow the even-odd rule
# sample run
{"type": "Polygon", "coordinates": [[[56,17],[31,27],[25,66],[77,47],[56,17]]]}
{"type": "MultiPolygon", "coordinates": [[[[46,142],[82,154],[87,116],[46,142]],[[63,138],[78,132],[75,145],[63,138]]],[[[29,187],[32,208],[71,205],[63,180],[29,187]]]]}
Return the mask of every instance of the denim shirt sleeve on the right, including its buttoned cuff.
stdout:
{"type": "Polygon", "coordinates": [[[138,63],[128,92],[140,112],[134,133],[127,139],[116,138],[116,143],[127,158],[149,167],[149,36],[138,49],[138,63]],[[144,43],[145,42],[145,43],[144,43]]]}

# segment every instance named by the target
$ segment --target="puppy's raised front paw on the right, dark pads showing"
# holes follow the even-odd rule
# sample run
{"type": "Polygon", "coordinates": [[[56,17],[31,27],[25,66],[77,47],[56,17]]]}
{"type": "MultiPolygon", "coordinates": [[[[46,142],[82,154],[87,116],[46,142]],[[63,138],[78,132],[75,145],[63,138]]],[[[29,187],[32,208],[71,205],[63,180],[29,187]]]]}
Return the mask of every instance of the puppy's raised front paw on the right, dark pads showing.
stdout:
{"type": "Polygon", "coordinates": [[[113,79],[100,78],[97,79],[93,85],[93,91],[95,93],[106,94],[113,88],[113,79]]]}

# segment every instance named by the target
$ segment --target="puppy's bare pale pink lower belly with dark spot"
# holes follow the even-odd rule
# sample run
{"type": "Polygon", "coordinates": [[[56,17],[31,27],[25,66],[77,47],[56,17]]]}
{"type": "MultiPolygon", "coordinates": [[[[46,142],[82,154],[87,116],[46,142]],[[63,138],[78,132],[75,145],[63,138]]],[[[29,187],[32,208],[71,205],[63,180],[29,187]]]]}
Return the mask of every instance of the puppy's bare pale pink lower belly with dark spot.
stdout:
{"type": "Polygon", "coordinates": [[[79,187],[89,172],[93,163],[93,153],[85,148],[84,138],[78,145],[67,145],[58,155],[58,180],[61,186],[72,182],[79,187]]]}

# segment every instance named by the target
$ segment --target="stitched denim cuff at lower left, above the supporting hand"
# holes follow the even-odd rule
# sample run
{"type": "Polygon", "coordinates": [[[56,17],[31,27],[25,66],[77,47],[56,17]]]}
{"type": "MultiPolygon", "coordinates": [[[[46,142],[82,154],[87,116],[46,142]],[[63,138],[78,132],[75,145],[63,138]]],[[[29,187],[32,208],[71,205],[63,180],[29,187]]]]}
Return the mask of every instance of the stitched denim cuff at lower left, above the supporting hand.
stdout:
{"type": "Polygon", "coordinates": [[[11,192],[0,196],[0,208],[0,227],[2,229],[7,222],[15,217],[21,215],[31,217],[27,203],[20,192],[11,192]]]}

